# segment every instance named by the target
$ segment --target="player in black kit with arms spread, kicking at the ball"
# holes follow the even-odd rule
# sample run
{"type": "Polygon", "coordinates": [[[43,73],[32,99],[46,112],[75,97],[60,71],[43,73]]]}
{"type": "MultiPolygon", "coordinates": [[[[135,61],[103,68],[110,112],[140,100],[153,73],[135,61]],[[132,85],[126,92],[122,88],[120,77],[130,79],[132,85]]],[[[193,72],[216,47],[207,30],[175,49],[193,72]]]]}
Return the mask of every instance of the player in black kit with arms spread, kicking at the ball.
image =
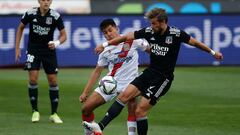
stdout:
{"type": "Polygon", "coordinates": [[[125,104],[138,95],[141,95],[141,99],[135,111],[137,117],[137,132],[138,135],[147,135],[147,113],[157,103],[160,97],[166,94],[171,86],[180,44],[182,42],[210,53],[217,60],[223,59],[221,53],[213,51],[183,30],[168,26],[168,16],[164,9],[152,9],[146,13],[145,17],[149,20],[151,24],[150,27],[130,32],[95,48],[95,51],[100,53],[105,46],[139,38],[145,38],[151,47],[149,67],[133,80],[126,90],[117,97],[105,117],[99,123],[83,122],[85,128],[93,130],[98,135],[101,135],[102,130],[109,122],[120,114],[125,104]]]}

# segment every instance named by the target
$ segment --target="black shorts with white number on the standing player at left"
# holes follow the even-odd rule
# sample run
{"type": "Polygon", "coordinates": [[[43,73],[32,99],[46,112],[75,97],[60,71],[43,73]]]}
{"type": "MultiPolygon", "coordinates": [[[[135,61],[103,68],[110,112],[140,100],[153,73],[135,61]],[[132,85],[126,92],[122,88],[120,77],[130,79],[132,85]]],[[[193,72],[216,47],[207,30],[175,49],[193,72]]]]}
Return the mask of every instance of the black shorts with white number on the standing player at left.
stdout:
{"type": "Polygon", "coordinates": [[[39,53],[36,51],[27,51],[25,70],[39,70],[41,64],[46,74],[57,74],[58,64],[56,52],[39,53]]]}

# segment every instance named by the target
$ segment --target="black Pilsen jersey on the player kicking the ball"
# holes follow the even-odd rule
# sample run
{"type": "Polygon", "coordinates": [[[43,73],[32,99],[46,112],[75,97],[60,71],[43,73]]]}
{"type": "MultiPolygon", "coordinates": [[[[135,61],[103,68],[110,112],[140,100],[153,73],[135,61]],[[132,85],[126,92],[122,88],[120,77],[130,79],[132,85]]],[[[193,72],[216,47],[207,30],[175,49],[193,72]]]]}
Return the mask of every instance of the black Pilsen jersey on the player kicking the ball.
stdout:
{"type": "Polygon", "coordinates": [[[136,39],[145,38],[151,47],[149,69],[157,73],[172,76],[176,65],[181,42],[188,43],[190,35],[168,26],[165,33],[154,33],[152,28],[143,28],[134,32],[136,39]]]}

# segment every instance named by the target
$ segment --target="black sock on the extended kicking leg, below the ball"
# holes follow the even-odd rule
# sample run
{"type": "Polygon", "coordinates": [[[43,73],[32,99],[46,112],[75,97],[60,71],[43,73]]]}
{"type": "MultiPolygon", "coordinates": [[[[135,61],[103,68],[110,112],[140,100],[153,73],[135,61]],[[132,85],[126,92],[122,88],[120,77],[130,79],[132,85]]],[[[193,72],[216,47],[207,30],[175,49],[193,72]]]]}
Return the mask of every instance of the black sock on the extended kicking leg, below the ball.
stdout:
{"type": "Polygon", "coordinates": [[[118,99],[116,99],[116,101],[108,109],[104,118],[98,123],[100,128],[103,130],[108,125],[108,123],[110,123],[115,117],[117,117],[121,113],[123,108],[124,104],[118,99]]]}

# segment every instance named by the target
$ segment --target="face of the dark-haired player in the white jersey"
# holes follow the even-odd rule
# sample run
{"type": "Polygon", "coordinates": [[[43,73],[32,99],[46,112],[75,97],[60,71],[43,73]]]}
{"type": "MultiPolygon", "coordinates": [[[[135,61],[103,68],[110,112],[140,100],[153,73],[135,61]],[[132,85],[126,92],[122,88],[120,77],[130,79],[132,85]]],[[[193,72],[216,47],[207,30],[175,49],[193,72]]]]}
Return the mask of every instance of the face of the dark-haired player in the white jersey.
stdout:
{"type": "Polygon", "coordinates": [[[107,26],[105,29],[103,29],[103,35],[107,40],[112,40],[115,37],[119,36],[118,28],[114,27],[112,25],[107,26]]]}

